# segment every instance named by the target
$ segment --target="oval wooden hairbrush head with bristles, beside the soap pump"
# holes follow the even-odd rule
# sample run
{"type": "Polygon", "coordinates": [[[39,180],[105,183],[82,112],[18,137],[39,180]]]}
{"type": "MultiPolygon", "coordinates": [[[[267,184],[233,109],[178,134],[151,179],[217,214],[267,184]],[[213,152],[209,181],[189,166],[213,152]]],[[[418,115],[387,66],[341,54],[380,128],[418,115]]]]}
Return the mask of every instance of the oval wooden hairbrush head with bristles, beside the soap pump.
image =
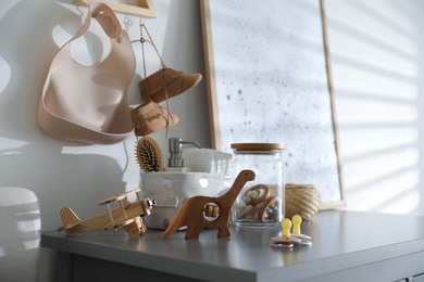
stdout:
{"type": "Polygon", "coordinates": [[[141,170],[145,172],[163,171],[161,148],[150,137],[144,137],[137,141],[136,158],[141,170]]]}

